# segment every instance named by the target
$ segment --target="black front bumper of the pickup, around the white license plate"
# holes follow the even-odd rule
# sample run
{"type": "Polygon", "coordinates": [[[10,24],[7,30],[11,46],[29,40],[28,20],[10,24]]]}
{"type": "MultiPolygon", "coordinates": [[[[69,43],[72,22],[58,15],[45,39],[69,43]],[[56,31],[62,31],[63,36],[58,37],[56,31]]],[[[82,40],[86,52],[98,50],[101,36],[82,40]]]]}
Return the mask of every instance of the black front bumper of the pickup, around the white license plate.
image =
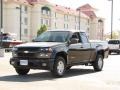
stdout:
{"type": "Polygon", "coordinates": [[[11,58],[10,64],[15,68],[29,68],[29,69],[45,69],[52,70],[54,59],[23,59],[23,58],[11,58]],[[21,65],[20,61],[26,60],[27,65],[21,65]]]}

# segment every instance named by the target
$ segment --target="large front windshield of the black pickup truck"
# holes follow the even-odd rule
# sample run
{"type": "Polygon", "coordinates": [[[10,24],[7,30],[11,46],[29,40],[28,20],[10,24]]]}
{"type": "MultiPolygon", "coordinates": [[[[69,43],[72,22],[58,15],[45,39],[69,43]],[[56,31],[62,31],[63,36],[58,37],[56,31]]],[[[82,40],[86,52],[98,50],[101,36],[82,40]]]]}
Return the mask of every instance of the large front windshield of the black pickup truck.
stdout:
{"type": "Polygon", "coordinates": [[[35,42],[66,42],[69,38],[68,31],[47,31],[38,36],[35,42]]]}

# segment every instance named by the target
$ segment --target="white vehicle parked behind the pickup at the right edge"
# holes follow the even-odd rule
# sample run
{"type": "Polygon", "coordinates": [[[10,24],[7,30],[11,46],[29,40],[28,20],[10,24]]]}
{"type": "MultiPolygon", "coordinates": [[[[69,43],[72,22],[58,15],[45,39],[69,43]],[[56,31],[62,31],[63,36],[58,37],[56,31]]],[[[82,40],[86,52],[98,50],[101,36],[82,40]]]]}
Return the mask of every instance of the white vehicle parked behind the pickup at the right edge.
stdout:
{"type": "Polygon", "coordinates": [[[109,45],[109,54],[111,53],[117,53],[120,54],[120,40],[108,40],[108,45],[109,45]]]}

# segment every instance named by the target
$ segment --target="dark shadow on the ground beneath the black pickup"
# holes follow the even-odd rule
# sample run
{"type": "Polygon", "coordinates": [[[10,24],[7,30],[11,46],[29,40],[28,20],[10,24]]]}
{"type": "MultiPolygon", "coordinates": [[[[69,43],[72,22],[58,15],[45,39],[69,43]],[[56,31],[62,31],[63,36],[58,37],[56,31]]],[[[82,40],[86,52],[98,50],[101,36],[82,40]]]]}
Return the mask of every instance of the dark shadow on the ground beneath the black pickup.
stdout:
{"type": "MultiPolygon", "coordinates": [[[[80,76],[85,74],[96,73],[92,69],[70,69],[66,71],[65,75],[62,78],[69,78],[74,76],[80,76]]],[[[51,75],[51,72],[38,72],[38,73],[30,73],[28,75],[9,75],[0,77],[0,81],[7,82],[34,82],[34,81],[45,81],[45,80],[55,80],[59,78],[55,78],[51,75]]]]}

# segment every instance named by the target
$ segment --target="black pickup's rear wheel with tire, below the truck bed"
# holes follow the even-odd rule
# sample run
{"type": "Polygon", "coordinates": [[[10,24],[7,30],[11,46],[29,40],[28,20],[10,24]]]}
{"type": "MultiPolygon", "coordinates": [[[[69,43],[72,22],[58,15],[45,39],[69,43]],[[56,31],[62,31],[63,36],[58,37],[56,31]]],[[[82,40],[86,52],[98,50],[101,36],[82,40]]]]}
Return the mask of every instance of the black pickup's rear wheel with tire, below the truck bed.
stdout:
{"type": "Polygon", "coordinates": [[[103,64],[103,56],[97,55],[96,60],[93,62],[94,71],[102,71],[103,64]]]}

